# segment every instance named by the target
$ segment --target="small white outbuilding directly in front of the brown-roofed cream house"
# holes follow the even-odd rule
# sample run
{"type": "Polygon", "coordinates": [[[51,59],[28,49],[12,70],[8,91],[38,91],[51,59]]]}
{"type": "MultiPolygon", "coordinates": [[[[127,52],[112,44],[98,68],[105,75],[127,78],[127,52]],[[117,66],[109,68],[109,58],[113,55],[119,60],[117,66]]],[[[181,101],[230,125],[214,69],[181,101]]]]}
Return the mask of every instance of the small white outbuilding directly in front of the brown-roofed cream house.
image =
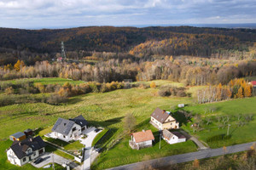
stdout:
{"type": "Polygon", "coordinates": [[[184,137],[181,133],[178,133],[178,132],[171,133],[167,129],[163,130],[161,137],[162,139],[165,139],[166,142],[169,144],[177,144],[177,143],[186,141],[186,137],[184,137]]]}

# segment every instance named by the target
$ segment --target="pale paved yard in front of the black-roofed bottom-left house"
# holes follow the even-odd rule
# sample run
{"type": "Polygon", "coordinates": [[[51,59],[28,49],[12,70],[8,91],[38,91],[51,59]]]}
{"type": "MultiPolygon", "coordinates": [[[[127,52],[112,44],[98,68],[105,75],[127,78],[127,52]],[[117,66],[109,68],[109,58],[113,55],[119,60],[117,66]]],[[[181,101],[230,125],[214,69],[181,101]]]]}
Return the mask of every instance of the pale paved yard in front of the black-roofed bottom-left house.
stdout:
{"type": "Polygon", "coordinates": [[[44,159],[44,161],[38,163],[38,164],[34,164],[33,162],[31,162],[32,166],[34,167],[44,167],[46,165],[48,165],[49,163],[52,163],[53,161],[59,165],[63,165],[63,164],[67,164],[68,166],[72,167],[73,169],[76,170],[80,170],[81,167],[74,163],[73,161],[67,160],[64,157],[55,155],[53,153],[49,153],[49,152],[45,152],[43,156],[40,156],[44,159]]]}

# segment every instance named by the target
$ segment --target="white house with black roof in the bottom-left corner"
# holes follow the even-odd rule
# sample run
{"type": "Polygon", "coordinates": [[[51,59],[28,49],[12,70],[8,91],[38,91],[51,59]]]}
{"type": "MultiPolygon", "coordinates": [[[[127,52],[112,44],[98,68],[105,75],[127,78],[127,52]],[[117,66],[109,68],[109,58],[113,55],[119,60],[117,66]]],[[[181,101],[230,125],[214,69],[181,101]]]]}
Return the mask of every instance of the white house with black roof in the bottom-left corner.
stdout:
{"type": "Polygon", "coordinates": [[[33,161],[45,152],[44,140],[40,136],[22,141],[15,140],[7,150],[10,163],[18,166],[33,161]]]}

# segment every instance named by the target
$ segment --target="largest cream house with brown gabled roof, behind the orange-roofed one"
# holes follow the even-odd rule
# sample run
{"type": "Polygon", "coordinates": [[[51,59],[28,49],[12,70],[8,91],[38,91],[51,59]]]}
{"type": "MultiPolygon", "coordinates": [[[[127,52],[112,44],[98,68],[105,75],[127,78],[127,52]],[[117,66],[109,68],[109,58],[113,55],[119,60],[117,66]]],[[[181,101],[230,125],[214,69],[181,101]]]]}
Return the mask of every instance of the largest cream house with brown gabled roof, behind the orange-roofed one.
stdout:
{"type": "Polygon", "coordinates": [[[179,122],[171,116],[171,113],[160,108],[156,108],[151,114],[150,123],[160,130],[179,128],[179,122]]]}

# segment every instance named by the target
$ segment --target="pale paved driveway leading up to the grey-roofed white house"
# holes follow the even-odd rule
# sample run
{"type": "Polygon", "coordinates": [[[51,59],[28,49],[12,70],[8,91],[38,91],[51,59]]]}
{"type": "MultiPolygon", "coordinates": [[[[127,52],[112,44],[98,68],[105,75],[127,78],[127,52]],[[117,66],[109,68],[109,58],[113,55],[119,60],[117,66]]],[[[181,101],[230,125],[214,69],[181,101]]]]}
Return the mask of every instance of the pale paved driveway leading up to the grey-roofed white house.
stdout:
{"type": "Polygon", "coordinates": [[[81,144],[85,144],[83,170],[90,169],[90,154],[92,151],[91,144],[93,139],[95,139],[96,135],[102,132],[102,130],[100,130],[99,132],[96,133],[94,132],[95,129],[96,127],[89,127],[85,129],[83,133],[87,135],[87,138],[79,139],[81,144]]]}

